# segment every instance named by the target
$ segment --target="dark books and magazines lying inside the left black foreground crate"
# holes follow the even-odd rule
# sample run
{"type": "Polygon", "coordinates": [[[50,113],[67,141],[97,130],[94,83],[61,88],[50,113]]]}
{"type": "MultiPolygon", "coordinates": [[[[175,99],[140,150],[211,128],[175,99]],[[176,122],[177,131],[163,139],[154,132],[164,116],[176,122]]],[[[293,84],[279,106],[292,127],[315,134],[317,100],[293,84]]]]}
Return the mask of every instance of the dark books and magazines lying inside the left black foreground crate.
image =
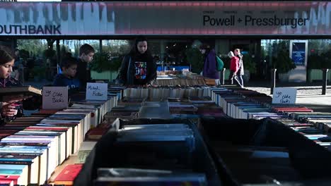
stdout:
{"type": "Polygon", "coordinates": [[[94,185],[207,185],[192,169],[195,140],[185,123],[122,125],[112,149],[122,163],[98,168],[94,185]]]}

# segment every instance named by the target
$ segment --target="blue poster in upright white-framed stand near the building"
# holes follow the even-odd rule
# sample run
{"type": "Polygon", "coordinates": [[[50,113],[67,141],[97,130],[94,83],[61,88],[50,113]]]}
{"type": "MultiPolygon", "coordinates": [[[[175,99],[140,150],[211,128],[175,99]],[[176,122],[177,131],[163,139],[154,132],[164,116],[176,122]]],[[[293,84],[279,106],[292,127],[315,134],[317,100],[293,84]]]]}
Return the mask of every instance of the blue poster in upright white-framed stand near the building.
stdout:
{"type": "Polygon", "coordinates": [[[308,40],[290,41],[290,58],[296,64],[296,68],[289,72],[289,82],[306,82],[308,40]]]}

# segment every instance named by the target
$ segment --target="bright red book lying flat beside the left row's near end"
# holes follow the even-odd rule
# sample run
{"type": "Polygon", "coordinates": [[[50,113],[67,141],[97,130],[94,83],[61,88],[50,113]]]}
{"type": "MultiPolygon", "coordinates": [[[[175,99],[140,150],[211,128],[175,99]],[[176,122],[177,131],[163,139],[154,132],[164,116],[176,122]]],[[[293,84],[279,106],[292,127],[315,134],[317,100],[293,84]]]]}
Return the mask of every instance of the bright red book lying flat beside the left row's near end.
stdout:
{"type": "Polygon", "coordinates": [[[58,185],[73,185],[74,179],[81,171],[83,164],[73,164],[66,166],[57,178],[54,179],[54,183],[58,185]]]}

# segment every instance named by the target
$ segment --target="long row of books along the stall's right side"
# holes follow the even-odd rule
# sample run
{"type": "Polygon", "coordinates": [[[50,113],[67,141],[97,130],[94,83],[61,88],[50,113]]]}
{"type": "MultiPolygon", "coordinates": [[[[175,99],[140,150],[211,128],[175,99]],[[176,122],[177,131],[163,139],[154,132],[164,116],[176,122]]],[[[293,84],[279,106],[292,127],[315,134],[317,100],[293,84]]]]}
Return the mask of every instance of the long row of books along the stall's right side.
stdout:
{"type": "Polygon", "coordinates": [[[272,99],[265,94],[245,89],[212,88],[211,94],[213,94],[214,101],[232,118],[257,120],[274,118],[313,142],[331,150],[331,140],[327,134],[323,133],[330,131],[330,113],[314,113],[312,109],[298,104],[272,104],[272,99]],[[289,117],[295,120],[291,120],[289,117]],[[313,123],[313,125],[309,123],[313,123]]]}

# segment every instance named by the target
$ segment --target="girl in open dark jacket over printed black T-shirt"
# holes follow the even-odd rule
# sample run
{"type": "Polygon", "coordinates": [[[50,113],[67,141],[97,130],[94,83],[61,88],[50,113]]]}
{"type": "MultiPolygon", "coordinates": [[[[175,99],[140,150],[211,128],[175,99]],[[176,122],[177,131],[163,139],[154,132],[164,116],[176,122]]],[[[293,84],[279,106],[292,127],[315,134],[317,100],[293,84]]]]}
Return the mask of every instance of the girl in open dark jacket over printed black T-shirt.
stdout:
{"type": "Polygon", "coordinates": [[[156,79],[156,63],[145,37],[137,37],[129,54],[124,56],[119,78],[124,85],[151,85],[156,79]]]}

